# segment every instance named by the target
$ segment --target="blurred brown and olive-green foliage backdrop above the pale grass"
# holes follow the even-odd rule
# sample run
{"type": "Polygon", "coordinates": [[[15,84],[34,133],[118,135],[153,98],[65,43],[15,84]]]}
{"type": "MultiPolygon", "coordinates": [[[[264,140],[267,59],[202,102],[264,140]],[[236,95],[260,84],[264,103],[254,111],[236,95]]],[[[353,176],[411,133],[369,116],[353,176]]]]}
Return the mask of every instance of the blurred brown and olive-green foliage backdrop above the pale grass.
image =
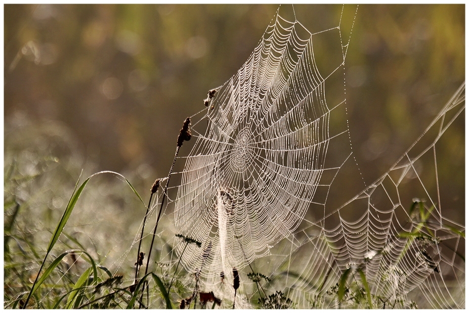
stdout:
{"type": "MultiPolygon", "coordinates": [[[[21,112],[40,123],[62,121],[101,169],[145,163],[159,171],[173,155],[184,118],[237,71],[276,9],[6,5],[5,117],[21,112]]],[[[342,6],[295,11],[315,31],[337,26],[342,6]]],[[[345,15],[343,24],[352,19],[345,15]]],[[[464,7],[362,5],[349,50],[353,144],[363,162],[384,158],[372,164],[371,179],[417,138],[464,79],[464,7]]],[[[462,126],[452,146],[462,145],[462,126]]]]}

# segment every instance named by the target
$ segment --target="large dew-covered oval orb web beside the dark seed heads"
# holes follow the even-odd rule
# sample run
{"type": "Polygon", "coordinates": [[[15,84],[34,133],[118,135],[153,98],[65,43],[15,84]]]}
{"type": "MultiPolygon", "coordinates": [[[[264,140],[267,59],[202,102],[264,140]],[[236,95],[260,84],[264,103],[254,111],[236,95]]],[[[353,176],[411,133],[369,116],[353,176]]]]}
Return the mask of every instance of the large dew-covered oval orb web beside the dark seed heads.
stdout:
{"type": "Polygon", "coordinates": [[[193,120],[203,131],[193,131],[175,201],[177,232],[202,243],[177,247],[179,255],[185,249],[190,273],[219,277],[269,255],[327,185],[321,177],[330,170],[324,162],[331,109],[324,77],[331,73],[320,73],[314,34],[293,20],[277,14],[244,65],[209,98],[203,117],[193,120]]]}

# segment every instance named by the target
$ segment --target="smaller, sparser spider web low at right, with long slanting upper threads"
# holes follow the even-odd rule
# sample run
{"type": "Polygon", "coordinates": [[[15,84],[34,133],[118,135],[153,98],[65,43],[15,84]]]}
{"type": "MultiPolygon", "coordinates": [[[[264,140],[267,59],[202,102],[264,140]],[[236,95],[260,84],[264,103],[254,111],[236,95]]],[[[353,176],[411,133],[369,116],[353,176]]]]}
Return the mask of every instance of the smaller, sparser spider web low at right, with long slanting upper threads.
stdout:
{"type": "Polygon", "coordinates": [[[423,305],[464,307],[464,237],[455,231],[464,231],[464,226],[444,217],[438,189],[425,187],[423,176],[416,169],[422,159],[434,159],[431,175],[438,187],[436,144],[464,110],[464,91],[462,84],[421,138],[384,175],[325,217],[326,224],[328,218],[336,215],[336,227],[317,231],[311,226],[295,234],[297,240],[303,238],[302,244],[285,255],[287,270],[280,266],[275,272],[286,276],[282,284],[291,288],[290,296],[301,306],[311,306],[315,301],[318,307],[336,306],[335,299],[325,299],[327,290],[334,288],[347,269],[362,269],[371,294],[382,306],[386,302],[405,307],[405,301],[415,299],[416,294],[423,305]],[[425,141],[430,144],[419,145],[425,141]],[[422,205],[421,212],[430,215],[422,232],[415,232],[423,225],[421,215],[406,205],[420,200],[410,199],[410,184],[417,185],[419,194],[430,202],[422,205]],[[361,216],[343,216],[350,211],[361,216]],[[418,233],[412,237],[415,240],[403,236],[412,233],[418,233]],[[308,266],[305,269],[292,264],[308,266]],[[413,297],[408,297],[409,293],[413,297]]]}

